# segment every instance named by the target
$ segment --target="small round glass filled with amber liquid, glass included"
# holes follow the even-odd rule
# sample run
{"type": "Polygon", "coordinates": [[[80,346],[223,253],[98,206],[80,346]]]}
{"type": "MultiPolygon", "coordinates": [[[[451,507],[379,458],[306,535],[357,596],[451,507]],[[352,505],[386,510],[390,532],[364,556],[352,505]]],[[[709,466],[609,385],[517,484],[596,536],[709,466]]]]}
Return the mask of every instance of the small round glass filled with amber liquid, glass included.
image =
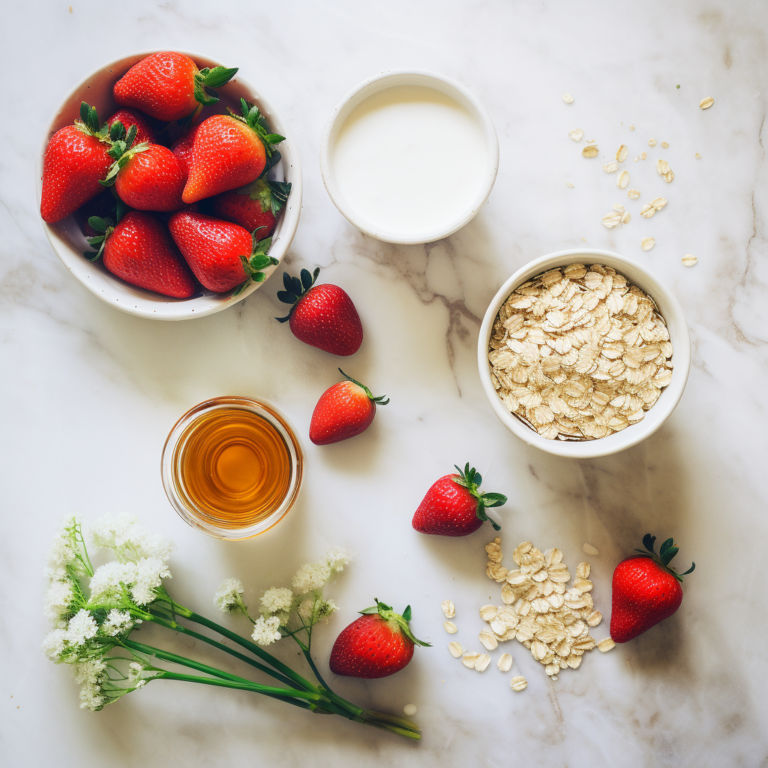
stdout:
{"type": "Polygon", "coordinates": [[[274,406],[217,397],[187,411],[163,448],[163,486],[179,515],[220,539],[269,530],[296,502],[304,457],[274,406]]]}

